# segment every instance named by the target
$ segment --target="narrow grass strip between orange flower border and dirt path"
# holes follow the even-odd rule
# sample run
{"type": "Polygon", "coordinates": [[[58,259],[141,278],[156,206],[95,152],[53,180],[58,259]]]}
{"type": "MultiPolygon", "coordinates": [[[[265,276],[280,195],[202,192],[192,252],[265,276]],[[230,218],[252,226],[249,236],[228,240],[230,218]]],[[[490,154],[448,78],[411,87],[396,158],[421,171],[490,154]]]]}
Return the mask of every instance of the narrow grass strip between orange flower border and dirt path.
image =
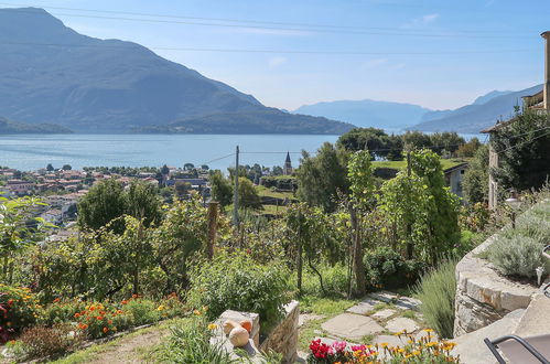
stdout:
{"type": "MultiPolygon", "coordinates": [[[[115,340],[111,340],[111,341],[108,341],[105,343],[100,343],[100,344],[94,344],[89,347],[74,352],[65,357],[62,357],[57,361],[54,361],[53,363],[55,363],[55,364],[89,363],[89,362],[97,360],[101,354],[109,352],[109,351],[112,351],[117,346],[122,345],[126,341],[128,341],[130,339],[137,338],[139,335],[143,335],[145,333],[150,333],[150,332],[153,332],[157,330],[168,330],[170,326],[172,326],[176,323],[180,323],[180,322],[185,322],[186,320],[188,320],[188,319],[179,318],[179,319],[165,320],[165,321],[162,321],[155,325],[130,332],[130,333],[122,335],[120,338],[117,338],[115,340]]],[[[153,351],[155,349],[157,349],[155,345],[141,346],[141,347],[137,349],[137,353],[141,358],[147,358],[147,357],[151,358],[151,354],[153,353],[153,351]]]]}

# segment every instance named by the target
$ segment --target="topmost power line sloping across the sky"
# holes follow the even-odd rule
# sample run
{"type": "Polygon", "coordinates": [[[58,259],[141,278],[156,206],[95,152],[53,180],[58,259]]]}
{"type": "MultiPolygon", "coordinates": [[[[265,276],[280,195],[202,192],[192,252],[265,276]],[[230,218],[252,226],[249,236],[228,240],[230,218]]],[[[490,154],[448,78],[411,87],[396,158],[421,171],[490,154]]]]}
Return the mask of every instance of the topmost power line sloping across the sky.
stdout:
{"type": "MultiPolygon", "coordinates": [[[[10,6],[10,7],[34,7],[33,4],[10,3],[10,2],[0,2],[0,4],[10,6]]],[[[44,9],[55,9],[55,10],[97,12],[97,13],[122,14],[122,15],[132,15],[132,17],[153,17],[153,18],[166,18],[166,19],[191,19],[191,20],[203,20],[203,21],[222,21],[222,22],[230,22],[230,23],[291,25],[291,26],[301,26],[301,28],[327,28],[327,29],[348,29],[348,30],[385,30],[385,31],[395,31],[396,30],[396,28],[380,28],[380,26],[334,25],[334,24],[301,23],[301,22],[258,21],[258,20],[229,19],[229,18],[205,18],[205,17],[145,13],[145,12],[129,12],[129,11],[114,11],[114,10],[98,10],[98,9],[83,9],[83,8],[64,8],[64,7],[52,7],[52,6],[40,6],[40,7],[44,8],[44,9]]],[[[418,30],[408,30],[408,32],[419,32],[419,31],[418,30]]],[[[454,32],[503,34],[506,31],[503,31],[503,30],[490,30],[490,31],[454,30],[454,32]]],[[[518,34],[518,32],[511,32],[511,31],[509,33],[518,34]]],[[[527,34],[528,32],[525,32],[525,33],[527,34]]],[[[531,33],[531,32],[529,32],[529,33],[531,33]]]]}

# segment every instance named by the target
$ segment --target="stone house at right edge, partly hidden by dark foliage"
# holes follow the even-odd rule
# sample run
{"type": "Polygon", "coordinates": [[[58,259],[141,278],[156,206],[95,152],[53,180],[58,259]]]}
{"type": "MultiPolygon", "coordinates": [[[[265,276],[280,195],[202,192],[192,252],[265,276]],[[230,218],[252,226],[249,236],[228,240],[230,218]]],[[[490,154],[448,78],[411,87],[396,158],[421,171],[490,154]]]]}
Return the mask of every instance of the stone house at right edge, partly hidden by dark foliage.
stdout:
{"type": "MultiPolygon", "coordinates": [[[[540,34],[544,39],[544,83],[542,90],[529,96],[524,96],[524,110],[530,110],[537,114],[547,114],[550,110],[550,31],[540,34]]],[[[497,121],[490,128],[482,130],[483,133],[489,135],[489,171],[498,167],[498,153],[495,151],[490,144],[490,135],[505,128],[506,126],[515,122],[513,118],[507,121],[497,121]]],[[[488,205],[490,210],[495,210],[498,205],[498,182],[493,178],[489,172],[489,185],[488,185],[488,205]]]]}

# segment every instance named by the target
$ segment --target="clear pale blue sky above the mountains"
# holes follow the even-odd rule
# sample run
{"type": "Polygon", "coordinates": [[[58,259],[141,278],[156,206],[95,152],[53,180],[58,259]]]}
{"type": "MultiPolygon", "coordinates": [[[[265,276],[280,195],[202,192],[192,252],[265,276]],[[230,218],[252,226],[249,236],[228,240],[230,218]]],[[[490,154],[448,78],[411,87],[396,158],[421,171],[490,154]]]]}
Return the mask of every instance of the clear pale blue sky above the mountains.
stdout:
{"type": "Polygon", "coordinates": [[[432,109],[542,83],[547,0],[0,0],[132,41],[293,110],[342,99],[432,109]]]}

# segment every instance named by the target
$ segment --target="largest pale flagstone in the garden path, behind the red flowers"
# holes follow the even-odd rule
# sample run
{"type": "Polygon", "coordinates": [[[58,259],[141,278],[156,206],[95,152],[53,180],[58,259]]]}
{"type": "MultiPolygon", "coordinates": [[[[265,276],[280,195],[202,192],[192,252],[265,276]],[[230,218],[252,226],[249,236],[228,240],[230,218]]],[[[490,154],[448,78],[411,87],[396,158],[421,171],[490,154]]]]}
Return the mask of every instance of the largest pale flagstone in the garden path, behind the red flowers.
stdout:
{"type": "Polygon", "coordinates": [[[365,335],[371,335],[384,331],[374,319],[353,313],[342,313],[321,324],[321,328],[332,335],[360,340],[365,335]]]}

